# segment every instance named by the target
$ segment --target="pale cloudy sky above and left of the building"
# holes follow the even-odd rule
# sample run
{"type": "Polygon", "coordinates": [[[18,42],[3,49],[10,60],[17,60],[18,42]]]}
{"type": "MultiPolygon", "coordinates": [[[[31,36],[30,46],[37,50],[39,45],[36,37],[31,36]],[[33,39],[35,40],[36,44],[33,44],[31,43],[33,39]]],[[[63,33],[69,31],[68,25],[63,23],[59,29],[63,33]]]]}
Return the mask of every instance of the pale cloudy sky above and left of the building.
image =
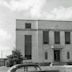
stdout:
{"type": "Polygon", "coordinates": [[[0,0],[0,58],[16,48],[16,19],[72,21],[72,0],[0,0]]]}

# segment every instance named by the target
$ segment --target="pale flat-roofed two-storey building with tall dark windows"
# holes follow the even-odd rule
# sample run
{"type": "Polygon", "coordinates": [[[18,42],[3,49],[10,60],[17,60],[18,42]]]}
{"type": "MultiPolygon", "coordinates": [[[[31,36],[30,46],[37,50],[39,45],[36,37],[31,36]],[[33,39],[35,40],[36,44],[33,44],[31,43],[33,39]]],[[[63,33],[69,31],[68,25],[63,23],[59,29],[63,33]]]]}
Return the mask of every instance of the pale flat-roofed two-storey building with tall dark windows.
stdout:
{"type": "Polygon", "coordinates": [[[32,62],[72,61],[72,21],[17,19],[16,48],[32,62]]]}

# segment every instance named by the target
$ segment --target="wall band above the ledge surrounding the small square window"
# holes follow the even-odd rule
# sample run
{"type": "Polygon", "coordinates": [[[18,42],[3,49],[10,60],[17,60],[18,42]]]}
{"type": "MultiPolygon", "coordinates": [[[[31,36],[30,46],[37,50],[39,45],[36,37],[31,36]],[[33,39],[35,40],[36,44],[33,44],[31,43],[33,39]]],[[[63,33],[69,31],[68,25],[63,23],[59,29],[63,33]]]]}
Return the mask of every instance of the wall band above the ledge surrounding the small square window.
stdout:
{"type": "Polygon", "coordinates": [[[16,28],[25,29],[25,23],[31,23],[31,29],[38,29],[37,20],[16,20],[16,28]]]}

